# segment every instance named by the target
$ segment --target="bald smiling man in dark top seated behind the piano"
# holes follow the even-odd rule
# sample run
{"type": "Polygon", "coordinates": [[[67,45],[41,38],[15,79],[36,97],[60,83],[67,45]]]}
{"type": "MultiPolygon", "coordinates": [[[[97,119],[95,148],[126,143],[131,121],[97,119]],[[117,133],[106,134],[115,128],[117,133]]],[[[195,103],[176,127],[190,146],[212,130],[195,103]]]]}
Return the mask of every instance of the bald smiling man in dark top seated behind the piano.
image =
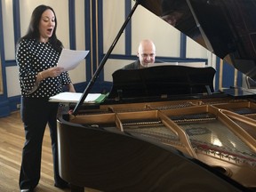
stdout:
{"type": "Polygon", "coordinates": [[[129,65],[124,66],[124,69],[139,69],[148,68],[148,64],[155,63],[156,46],[148,39],[144,39],[140,42],[137,56],[139,60],[132,62],[129,65]]]}

